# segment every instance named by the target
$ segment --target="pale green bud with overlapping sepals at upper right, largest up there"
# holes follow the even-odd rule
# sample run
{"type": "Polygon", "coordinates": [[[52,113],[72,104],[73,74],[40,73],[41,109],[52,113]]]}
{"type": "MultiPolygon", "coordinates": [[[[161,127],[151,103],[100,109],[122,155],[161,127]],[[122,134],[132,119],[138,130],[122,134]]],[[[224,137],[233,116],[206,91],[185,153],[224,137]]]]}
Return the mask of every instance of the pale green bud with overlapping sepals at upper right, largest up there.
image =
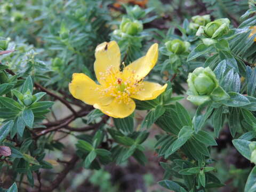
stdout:
{"type": "Polygon", "coordinates": [[[204,28],[204,33],[210,38],[219,38],[228,33],[229,23],[230,21],[227,18],[209,22],[204,28]]]}

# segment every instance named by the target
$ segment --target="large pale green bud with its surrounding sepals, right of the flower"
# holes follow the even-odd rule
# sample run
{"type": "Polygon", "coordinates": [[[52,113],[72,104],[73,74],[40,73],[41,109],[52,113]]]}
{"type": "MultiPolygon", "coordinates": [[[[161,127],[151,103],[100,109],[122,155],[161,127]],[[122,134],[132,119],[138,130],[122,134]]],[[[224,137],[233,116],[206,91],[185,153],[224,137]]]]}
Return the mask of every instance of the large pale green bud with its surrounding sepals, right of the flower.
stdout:
{"type": "Polygon", "coordinates": [[[188,74],[188,100],[195,105],[213,100],[215,102],[228,99],[229,95],[219,86],[219,81],[209,68],[198,67],[188,74]]]}

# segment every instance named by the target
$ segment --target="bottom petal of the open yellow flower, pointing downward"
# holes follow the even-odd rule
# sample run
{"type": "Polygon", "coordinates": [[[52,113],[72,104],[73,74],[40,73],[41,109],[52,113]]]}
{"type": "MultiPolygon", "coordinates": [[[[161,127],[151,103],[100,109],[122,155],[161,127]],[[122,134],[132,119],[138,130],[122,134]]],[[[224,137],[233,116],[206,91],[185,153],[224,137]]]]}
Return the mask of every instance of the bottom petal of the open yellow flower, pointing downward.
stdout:
{"type": "Polygon", "coordinates": [[[102,113],[114,117],[114,118],[124,118],[133,113],[135,110],[135,102],[130,99],[130,102],[128,104],[124,102],[120,102],[119,99],[114,99],[113,102],[111,102],[107,106],[101,106],[98,103],[93,105],[94,108],[100,109],[102,113]]]}

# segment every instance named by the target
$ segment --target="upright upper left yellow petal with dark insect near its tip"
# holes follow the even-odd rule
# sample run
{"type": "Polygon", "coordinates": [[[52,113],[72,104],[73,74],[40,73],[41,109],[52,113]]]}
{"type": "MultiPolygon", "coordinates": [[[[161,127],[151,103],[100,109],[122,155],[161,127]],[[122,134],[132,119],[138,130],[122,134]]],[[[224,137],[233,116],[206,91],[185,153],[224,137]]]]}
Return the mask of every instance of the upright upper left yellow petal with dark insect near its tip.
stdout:
{"type": "Polygon", "coordinates": [[[102,74],[106,75],[106,71],[110,69],[113,73],[118,73],[120,62],[121,53],[115,41],[104,42],[96,47],[94,71],[101,85],[106,85],[105,78],[102,78],[102,74]]]}

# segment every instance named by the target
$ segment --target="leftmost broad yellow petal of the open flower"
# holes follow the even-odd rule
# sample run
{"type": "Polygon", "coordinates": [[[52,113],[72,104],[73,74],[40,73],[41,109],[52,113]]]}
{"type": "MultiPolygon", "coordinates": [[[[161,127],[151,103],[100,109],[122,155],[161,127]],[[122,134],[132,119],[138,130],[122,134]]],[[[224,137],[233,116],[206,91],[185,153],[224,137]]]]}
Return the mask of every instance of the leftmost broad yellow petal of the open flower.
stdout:
{"type": "Polygon", "coordinates": [[[72,82],[69,83],[69,91],[73,97],[89,105],[94,105],[94,103],[108,105],[113,100],[113,97],[102,97],[101,89],[102,85],[96,84],[90,77],[82,73],[74,73],[72,82]]]}

